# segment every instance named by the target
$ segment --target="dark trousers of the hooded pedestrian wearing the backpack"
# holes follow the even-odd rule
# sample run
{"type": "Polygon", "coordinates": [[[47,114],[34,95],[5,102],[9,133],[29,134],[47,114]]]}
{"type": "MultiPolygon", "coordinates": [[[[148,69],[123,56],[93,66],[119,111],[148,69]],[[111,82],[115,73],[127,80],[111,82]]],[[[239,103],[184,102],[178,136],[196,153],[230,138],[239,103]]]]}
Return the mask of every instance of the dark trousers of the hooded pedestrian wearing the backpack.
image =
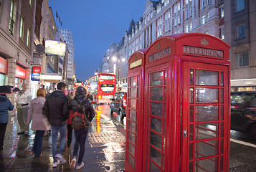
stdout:
{"type": "Polygon", "coordinates": [[[73,157],[77,156],[78,148],[80,147],[77,164],[82,162],[82,158],[85,154],[85,140],[87,138],[88,128],[82,128],[75,130],[75,145],[73,150],[73,157]]]}

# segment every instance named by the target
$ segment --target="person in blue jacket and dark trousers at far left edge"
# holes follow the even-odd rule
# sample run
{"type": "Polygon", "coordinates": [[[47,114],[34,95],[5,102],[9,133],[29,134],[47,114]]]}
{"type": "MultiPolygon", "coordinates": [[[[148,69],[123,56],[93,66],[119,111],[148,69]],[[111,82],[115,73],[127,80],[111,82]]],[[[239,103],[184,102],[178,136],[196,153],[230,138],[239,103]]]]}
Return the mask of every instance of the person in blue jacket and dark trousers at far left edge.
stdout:
{"type": "Polygon", "coordinates": [[[0,95],[0,151],[4,146],[4,135],[9,120],[8,110],[14,110],[14,105],[6,95],[0,95]]]}

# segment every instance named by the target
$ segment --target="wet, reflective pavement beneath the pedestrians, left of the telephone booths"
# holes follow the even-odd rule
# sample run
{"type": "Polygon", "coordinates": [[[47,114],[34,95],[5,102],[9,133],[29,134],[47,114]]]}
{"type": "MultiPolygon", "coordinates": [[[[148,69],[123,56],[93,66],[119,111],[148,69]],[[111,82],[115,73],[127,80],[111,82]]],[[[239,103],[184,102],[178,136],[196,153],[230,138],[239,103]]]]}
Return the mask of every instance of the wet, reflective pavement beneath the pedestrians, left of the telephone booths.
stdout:
{"type": "Polygon", "coordinates": [[[71,170],[70,161],[75,143],[75,135],[70,148],[66,148],[63,155],[67,160],[62,166],[52,168],[52,137],[44,136],[42,156],[34,158],[32,146],[34,132],[29,135],[17,135],[19,132],[16,116],[9,119],[4,140],[4,151],[0,151],[0,171],[7,172],[43,172],[43,171],[124,171],[125,168],[125,133],[124,129],[113,123],[101,111],[90,125],[85,143],[85,166],[80,170],[71,170]],[[122,128],[120,128],[122,129],[122,128]]]}

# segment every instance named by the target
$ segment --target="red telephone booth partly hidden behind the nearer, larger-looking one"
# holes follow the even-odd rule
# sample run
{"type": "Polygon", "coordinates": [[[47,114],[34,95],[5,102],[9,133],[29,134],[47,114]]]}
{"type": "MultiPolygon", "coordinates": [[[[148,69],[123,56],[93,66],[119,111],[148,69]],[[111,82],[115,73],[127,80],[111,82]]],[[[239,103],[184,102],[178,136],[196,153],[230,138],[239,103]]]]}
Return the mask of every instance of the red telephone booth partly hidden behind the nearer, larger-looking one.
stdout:
{"type": "Polygon", "coordinates": [[[142,171],[143,78],[146,49],[128,60],[128,104],[126,113],[125,171],[142,171]]]}

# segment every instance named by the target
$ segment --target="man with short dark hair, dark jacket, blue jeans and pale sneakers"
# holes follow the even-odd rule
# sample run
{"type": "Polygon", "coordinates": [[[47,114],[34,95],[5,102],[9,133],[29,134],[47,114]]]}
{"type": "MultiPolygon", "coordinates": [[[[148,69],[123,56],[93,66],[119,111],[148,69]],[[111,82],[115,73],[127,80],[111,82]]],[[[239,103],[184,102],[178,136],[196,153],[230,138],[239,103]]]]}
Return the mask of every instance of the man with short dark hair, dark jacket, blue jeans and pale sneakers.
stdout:
{"type": "Polygon", "coordinates": [[[57,90],[47,97],[43,108],[43,114],[47,116],[52,127],[52,167],[57,167],[58,164],[67,162],[62,156],[66,145],[67,119],[70,118],[67,105],[68,100],[65,95],[66,87],[67,85],[65,83],[59,82],[57,84],[57,90]],[[60,145],[57,151],[58,132],[60,132],[60,145]]]}

